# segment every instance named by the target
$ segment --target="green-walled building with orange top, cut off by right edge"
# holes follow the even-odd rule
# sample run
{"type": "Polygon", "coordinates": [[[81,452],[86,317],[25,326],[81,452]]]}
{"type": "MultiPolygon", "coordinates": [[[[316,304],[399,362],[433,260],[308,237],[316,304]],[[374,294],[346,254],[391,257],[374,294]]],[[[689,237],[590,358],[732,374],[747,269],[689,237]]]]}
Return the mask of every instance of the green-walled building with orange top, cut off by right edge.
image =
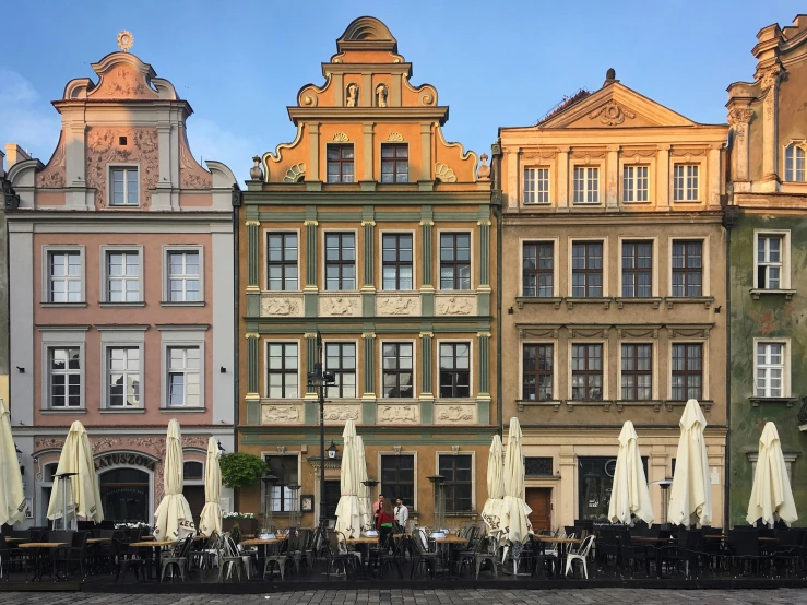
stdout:
{"type": "Polygon", "coordinates": [[[757,34],[753,82],[728,87],[731,523],[744,524],[759,437],[776,424],[807,509],[807,15],[757,34]]]}

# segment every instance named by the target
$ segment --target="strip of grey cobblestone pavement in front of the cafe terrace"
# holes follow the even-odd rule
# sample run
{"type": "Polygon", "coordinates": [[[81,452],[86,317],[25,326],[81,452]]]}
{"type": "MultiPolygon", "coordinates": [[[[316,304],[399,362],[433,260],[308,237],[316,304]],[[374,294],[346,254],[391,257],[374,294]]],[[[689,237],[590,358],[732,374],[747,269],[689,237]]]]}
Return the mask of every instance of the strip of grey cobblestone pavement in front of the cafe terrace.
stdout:
{"type": "Polygon", "coordinates": [[[322,590],[264,594],[0,593],[3,605],[797,605],[807,589],[779,590],[322,590]]]}

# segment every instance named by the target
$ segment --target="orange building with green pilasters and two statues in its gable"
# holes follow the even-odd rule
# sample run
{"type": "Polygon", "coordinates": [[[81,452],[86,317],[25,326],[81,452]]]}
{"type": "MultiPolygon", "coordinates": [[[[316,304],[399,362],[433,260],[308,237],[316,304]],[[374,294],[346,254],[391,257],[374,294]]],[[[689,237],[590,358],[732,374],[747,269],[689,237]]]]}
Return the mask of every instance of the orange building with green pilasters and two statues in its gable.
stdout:
{"type": "MultiPolygon", "coordinates": [[[[310,525],[321,499],[335,510],[353,418],[385,496],[428,523],[427,477],[441,474],[449,514],[474,519],[497,429],[489,167],[477,175],[476,154],[446,142],[448,107],[410,83],[383,23],[358,19],[336,46],[324,85],[304,86],[288,108],[296,139],[254,158],[244,193],[239,449],[280,477],[278,523],[299,496],[310,525]],[[320,355],[336,377],[324,420],[339,454],[324,494],[307,384],[320,355]]],[[[242,494],[239,508],[261,510],[260,497],[242,494]]]]}

